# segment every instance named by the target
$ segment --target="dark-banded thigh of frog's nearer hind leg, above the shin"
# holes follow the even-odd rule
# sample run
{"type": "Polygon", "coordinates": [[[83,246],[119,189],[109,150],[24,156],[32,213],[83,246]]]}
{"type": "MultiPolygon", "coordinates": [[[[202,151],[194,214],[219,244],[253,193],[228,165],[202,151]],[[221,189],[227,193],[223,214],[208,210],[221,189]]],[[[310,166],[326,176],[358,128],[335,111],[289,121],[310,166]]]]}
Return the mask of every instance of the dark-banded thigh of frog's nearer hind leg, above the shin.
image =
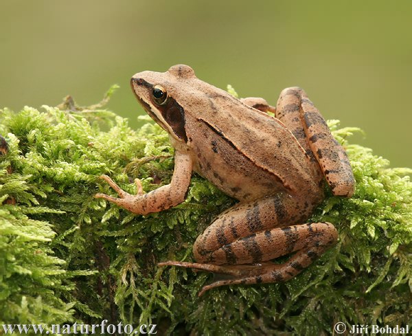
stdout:
{"type": "Polygon", "coordinates": [[[247,246],[256,259],[260,255],[260,249],[253,247],[255,243],[251,235],[273,227],[302,222],[308,218],[311,210],[312,208],[288,194],[276,194],[253,203],[234,205],[220,214],[205,232],[198,236],[193,247],[194,257],[198,262],[239,263],[238,257],[231,250],[231,243],[237,241],[238,249],[247,246]],[[215,256],[216,251],[219,252],[215,256]]]}

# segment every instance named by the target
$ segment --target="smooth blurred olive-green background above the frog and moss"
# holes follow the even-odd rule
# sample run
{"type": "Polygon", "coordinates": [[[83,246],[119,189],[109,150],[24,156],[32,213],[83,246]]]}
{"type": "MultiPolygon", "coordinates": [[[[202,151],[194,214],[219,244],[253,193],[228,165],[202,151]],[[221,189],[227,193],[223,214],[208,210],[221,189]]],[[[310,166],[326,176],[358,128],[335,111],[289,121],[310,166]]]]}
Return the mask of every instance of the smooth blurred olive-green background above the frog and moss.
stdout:
{"type": "Polygon", "coordinates": [[[275,104],[300,86],[326,118],[359,126],[392,166],[412,166],[412,1],[1,1],[0,107],[71,94],[138,126],[129,78],[191,65],[198,78],[275,104]]]}

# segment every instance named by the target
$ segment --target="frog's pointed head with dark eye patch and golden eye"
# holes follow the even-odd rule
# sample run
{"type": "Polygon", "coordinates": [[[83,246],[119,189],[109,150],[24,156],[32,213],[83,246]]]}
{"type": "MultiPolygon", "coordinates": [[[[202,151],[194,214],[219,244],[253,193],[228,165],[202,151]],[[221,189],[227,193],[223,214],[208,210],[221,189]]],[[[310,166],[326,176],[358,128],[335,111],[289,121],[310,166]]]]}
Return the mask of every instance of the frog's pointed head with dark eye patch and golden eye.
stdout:
{"type": "Polygon", "coordinates": [[[187,136],[185,111],[176,97],[185,96],[182,92],[194,78],[191,67],[174,65],[165,72],[139,72],[130,80],[137,100],[148,115],[178,142],[187,142],[187,136]]]}

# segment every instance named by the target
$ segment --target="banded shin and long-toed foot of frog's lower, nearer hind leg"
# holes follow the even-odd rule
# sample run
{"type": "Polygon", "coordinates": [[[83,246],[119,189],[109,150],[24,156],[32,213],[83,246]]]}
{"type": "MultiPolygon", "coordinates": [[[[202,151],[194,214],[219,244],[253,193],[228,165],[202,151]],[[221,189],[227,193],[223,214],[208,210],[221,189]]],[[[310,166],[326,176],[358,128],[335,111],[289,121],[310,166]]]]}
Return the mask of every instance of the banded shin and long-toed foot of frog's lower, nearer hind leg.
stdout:
{"type": "Polygon", "coordinates": [[[174,265],[226,275],[223,280],[216,280],[203,287],[200,296],[209,289],[227,284],[285,282],[308,267],[328,247],[336,243],[336,239],[336,229],[330,223],[277,227],[224,245],[214,251],[212,258],[209,258],[214,262],[225,260],[230,251],[236,262],[245,265],[176,261],[162,262],[159,265],[174,265]],[[267,262],[293,252],[295,254],[283,264],[267,262]]]}

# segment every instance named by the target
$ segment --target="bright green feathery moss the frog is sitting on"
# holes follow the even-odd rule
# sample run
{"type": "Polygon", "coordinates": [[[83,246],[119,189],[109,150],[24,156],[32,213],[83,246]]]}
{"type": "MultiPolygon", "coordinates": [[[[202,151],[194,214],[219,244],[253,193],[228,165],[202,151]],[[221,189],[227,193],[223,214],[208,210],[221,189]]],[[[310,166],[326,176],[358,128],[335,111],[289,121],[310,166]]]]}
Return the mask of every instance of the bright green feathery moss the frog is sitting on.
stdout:
{"type": "Polygon", "coordinates": [[[173,149],[159,126],[134,131],[101,104],[70,99],[60,109],[1,111],[10,150],[0,157],[0,324],[151,322],[160,335],[410,324],[411,170],[349,144],[356,128],[329,124],[350,156],[356,193],[327,191],[311,221],[332,222],[339,243],[285,284],[220,287],[198,298],[209,274],[156,264],[193,260],[196,236],[233,199],[197,175],[184,203],[148,216],[93,198],[113,194],[102,174],[130,193],[135,177],[146,192],[170,181],[173,149]]]}

